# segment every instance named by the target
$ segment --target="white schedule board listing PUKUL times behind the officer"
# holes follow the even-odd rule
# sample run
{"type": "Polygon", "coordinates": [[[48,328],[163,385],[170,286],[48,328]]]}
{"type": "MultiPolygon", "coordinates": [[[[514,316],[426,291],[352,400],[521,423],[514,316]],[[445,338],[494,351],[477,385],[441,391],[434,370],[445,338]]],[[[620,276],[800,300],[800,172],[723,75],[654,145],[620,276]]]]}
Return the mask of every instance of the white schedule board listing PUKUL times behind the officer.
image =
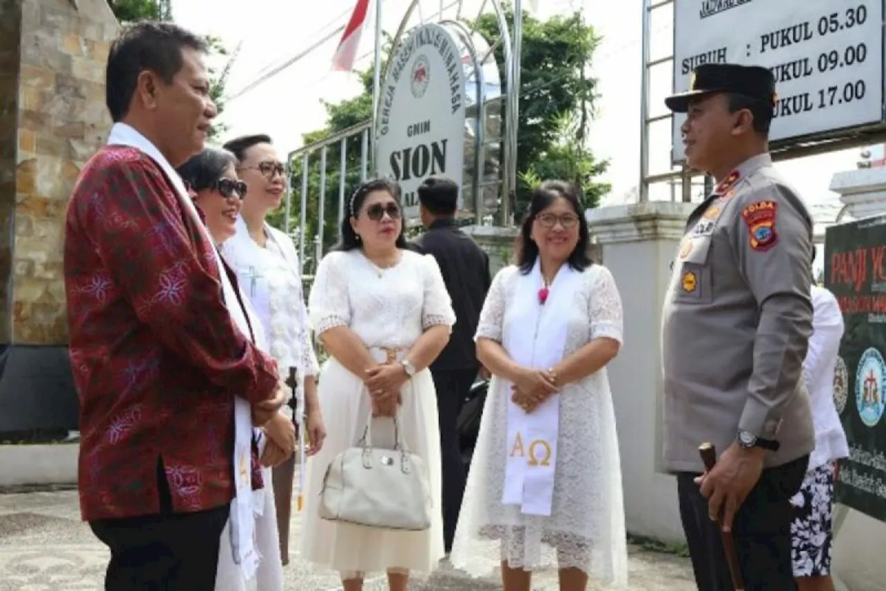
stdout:
{"type": "MultiPolygon", "coordinates": [[[[710,62],[764,66],[778,102],[771,140],[882,122],[882,0],[676,0],[675,92],[710,62]]],[[[673,118],[673,161],[684,158],[673,118]]]]}

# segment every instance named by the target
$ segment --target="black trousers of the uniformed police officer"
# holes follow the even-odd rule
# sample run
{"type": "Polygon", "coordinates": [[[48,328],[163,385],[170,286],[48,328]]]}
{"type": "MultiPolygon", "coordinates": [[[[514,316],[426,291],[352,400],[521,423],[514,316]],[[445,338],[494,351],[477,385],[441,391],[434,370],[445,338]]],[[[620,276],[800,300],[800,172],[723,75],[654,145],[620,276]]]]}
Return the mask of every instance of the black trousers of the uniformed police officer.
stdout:
{"type": "MultiPolygon", "coordinates": [[[[763,470],[757,485],[735,516],[733,538],[746,591],[796,589],[790,561],[790,498],[800,490],[809,456],[763,470]]],[[[708,503],[693,482],[697,474],[677,475],[680,518],[692,557],[698,591],[732,591],[719,525],[708,516],[708,503]]]]}

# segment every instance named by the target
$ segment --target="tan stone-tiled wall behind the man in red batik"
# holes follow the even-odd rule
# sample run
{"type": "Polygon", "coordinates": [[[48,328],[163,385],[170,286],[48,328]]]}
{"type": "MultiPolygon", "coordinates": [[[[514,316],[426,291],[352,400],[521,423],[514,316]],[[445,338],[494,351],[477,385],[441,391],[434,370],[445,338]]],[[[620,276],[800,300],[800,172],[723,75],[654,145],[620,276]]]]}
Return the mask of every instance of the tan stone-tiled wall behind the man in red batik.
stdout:
{"type": "Polygon", "coordinates": [[[82,165],[111,127],[105,62],[118,24],[105,0],[0,0],[0,22],[18,28],[18,35],[0,38],[0,48],[7,39],[19,44],[18,59],[3,59],[0,49],[4,106],[15,101],[14,109],[0,111],[12,120],[0,122],[0,134],[12,127],[17,147],[12,173],[0,153],[0,250],[6,249],[0,336],[7,343],[66,345],[66,205],[82,165]],[[6,98],[7,79],[18,80],[15,99],[6,98]],[[14,196],[2,185],[11,176],[14,196]]]}

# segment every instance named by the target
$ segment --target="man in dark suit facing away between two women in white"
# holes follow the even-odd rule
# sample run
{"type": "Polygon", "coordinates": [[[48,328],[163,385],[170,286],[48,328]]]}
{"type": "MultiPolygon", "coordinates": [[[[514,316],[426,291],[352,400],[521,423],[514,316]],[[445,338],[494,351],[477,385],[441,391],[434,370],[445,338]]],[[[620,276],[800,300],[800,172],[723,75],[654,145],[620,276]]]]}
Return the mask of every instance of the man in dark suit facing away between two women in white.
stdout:
{"type": "Polygon", "coordinates": [[[443,464],[443,534],[448,553],[455,537],[465,484],[457,420],[480,369],[474,333],[489,289],[489,256],[455,223],[458,185],[453,181],[428,177],[418,187],[418,201],[427,232],[410,246],[437,259],[456,318],[446,349],[431,364],[437,388],[443,464]]]}

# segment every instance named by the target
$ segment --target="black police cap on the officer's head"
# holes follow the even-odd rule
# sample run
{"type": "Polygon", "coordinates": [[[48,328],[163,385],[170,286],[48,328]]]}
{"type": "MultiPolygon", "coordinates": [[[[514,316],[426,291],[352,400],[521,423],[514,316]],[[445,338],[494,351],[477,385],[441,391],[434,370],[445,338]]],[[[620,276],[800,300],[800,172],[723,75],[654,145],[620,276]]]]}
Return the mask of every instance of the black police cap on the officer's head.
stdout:
{"type": "Polygon", "coordinates": [[[775,77],[767,67],[703,64],[692,71],[689,90],[664,99],[674,113],[686,113],[696,97],[728,92],[775,105],[775,77]]]}

